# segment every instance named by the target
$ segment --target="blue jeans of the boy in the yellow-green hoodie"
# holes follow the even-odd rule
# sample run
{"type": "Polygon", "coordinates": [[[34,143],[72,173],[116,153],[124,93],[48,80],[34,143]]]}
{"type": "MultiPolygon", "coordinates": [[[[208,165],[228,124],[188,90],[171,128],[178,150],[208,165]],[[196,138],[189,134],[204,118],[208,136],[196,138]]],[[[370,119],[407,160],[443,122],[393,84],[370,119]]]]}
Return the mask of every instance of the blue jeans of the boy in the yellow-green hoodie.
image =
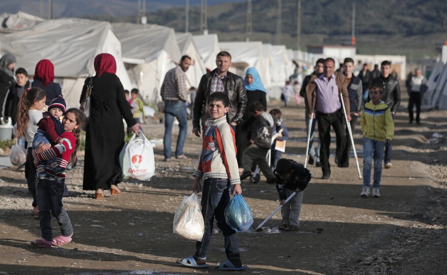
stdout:
{"type": "Polygon", "coordinates": [[[370,186],[371,162],[374,158],[374,182],[372,187],[380,187],[382,176],[382,159],[384,158],[385,142],[374,141],[363,137],[363,186],[370,186]]]}

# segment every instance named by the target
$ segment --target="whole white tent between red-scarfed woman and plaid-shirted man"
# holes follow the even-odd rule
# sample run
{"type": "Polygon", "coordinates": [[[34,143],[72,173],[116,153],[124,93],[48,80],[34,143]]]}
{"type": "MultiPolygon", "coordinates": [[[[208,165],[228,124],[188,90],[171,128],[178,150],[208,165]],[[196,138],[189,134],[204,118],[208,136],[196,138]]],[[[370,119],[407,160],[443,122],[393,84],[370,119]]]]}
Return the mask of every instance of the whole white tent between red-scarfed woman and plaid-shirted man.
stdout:
{"type": "Polygon", "coordinates": [[[116,23],[132,85],[146,101],[157,102],[166,73],[181,58],[174,29],[155,24],[116,23]]]}

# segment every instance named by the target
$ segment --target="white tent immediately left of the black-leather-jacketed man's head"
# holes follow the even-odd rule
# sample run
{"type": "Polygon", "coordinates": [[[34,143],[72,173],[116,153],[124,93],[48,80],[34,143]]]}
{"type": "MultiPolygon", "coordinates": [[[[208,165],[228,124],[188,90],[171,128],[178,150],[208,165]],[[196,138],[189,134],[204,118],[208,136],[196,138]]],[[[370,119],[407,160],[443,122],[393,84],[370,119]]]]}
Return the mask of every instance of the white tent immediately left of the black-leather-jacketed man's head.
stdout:
{"type": "Polygon", "coordinates": [[[208,70],[216,68],[216,56],[220,52],[219,40],[216,34],[206,36],[193,36],[194,43],[202,55],[202,60],[208,70]]]}

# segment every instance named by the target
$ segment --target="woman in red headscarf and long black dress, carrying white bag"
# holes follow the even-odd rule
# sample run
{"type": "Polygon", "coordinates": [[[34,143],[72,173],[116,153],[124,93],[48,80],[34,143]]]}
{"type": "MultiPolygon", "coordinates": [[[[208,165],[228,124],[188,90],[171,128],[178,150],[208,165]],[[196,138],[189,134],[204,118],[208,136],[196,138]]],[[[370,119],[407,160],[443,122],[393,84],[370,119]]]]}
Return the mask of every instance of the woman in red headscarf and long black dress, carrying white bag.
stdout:
{"type": "MultiPolygon", "coordinates": [[[[90,118],[85,139],[85,162],[83,190],[95,190],[97,199],[104,199],[103,190],[119,195],[117,186],[122,181],[119,153],[124,146],[124,125],[131,125],[139,133],[137,123],[124,95],[121,81],[115,75],[115,58],[102,53],[94,58],[96,75],[92,79],[90,95],[90,118]]],[[[85,96],[88,79],[82,89],[81,102],[85,96]]]]}

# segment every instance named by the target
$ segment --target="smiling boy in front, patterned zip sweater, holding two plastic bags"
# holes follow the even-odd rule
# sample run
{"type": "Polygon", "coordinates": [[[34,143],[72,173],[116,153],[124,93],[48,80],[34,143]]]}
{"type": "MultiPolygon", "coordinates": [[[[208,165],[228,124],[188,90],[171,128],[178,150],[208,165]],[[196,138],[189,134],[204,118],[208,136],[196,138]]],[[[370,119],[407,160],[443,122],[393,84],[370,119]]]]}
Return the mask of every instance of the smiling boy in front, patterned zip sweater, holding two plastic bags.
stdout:
{"type": "Polygon", "coordinates": [[[205,234],[196,243],[196,253],[178,263],[196,268],[209,267],[206,264],[208,246],[211,241],[214,217],[217,226],[225,237],[227,260],[214,269],[243,270],[236,231],[225,222],[223,212],[230,202],[230,192],[241,194],[241,181],[236,160],[234,131],[227,122],[230,99],[225,93],[214,92],[208,98],[208,119],[203,129],[203,146],[199,167],[193,173],[196,177],[193,192],[202,191],[202,215],[205,221],[205,234]],[[203,187],[200,184],[203,179],[203,187]],[[233,189],[233,190],[231,190],[233,189]]]}

